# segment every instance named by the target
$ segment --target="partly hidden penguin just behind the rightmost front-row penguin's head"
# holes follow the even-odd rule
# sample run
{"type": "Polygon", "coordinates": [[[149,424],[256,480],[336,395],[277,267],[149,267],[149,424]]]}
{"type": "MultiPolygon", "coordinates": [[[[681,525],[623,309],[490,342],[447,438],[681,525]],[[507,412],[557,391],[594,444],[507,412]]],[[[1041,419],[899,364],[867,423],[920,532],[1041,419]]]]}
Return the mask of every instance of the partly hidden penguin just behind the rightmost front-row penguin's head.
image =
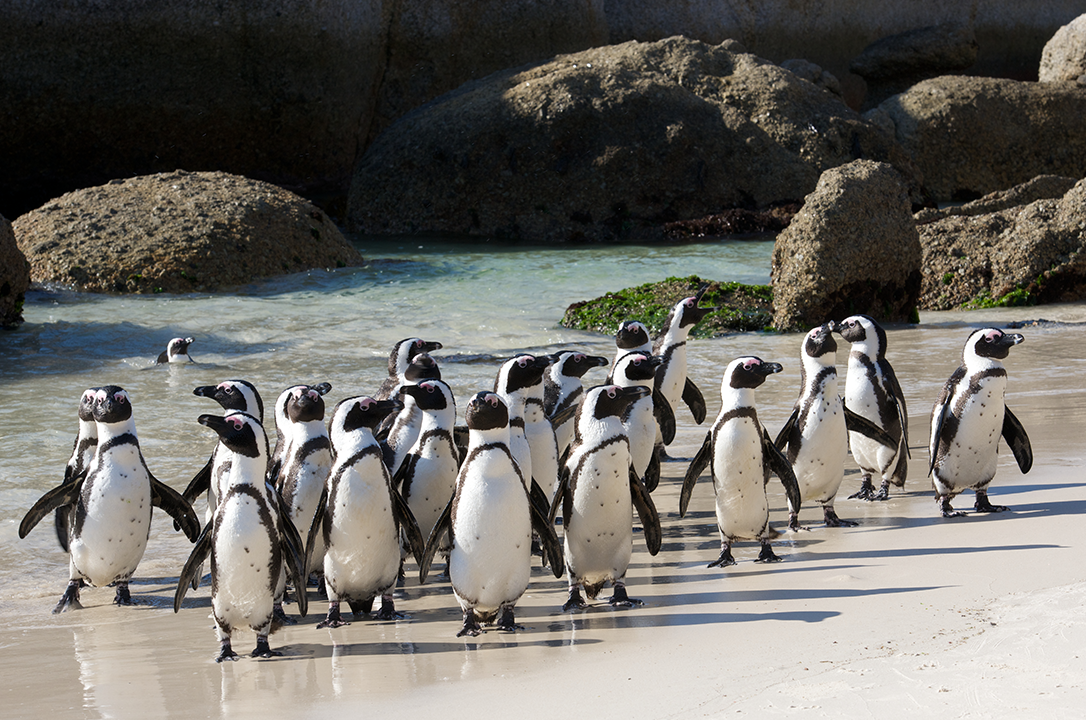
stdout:
{"type": "Polygon", "coordinates": [[[608,382],[620,388],[642,386],[649,394],[633,401],[622,414],[622,428],[630,441],[630,467],[648,492],[660,482],[660,454],[656,445],[656,416],[653,402],[656,368],[661,358],[645,351],[634,351],[615,361],[608,382]]]}

